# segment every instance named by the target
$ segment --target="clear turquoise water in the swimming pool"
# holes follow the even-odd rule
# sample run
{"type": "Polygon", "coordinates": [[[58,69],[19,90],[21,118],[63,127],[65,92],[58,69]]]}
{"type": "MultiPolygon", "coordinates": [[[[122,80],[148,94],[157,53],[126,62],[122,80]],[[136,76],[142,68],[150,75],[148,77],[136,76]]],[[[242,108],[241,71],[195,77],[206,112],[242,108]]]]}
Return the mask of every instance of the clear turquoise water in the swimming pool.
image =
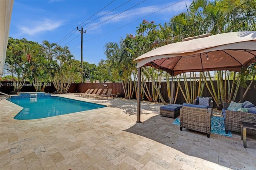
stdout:
{"type": "Polygon", "coordinates": [[[40,119],[106,107],[105,105],[55,96],[8,100],[24,108],[14,117],[14,119],[19,120],[40,119]]]}

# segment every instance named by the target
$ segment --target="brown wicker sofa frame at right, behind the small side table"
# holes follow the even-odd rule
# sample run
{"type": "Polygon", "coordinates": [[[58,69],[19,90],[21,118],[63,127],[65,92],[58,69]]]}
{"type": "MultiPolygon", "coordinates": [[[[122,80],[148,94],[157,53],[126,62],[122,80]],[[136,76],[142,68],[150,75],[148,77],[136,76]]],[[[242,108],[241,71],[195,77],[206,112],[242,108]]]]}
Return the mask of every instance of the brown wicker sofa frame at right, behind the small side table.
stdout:
{"type": "MultiPolygon", "coordinates": [[[[228,109],[229,105],[230,103],[223,103],[223,109],[228,109]]],[[[226,133],[228,133],[228,130],[241,133],[241,121],[256,123],[252,121],[252,116],[255,116],[255,114],[226,110],[226,118],[224,121],[226,133]]],[[[256,130],[247,129],[246,131],[247,134],[256,135],[256,130]]]]}

